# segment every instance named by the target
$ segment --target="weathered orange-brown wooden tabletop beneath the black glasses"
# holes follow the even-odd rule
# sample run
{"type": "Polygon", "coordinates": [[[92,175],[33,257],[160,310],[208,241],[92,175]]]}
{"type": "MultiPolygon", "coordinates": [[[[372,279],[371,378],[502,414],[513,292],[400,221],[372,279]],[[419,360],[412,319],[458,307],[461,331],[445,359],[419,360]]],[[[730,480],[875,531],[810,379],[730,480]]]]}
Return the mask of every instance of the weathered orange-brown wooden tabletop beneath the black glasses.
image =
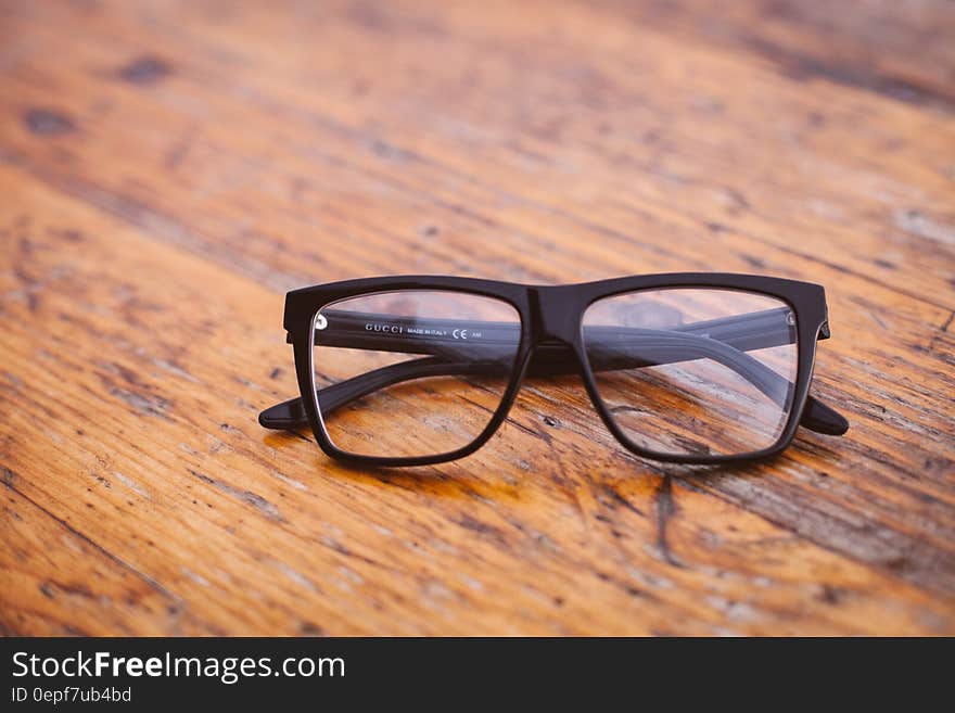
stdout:
{"type": "Polygon", "coordinates": [[[955,9],[716,4],[3,2],[0,628],[955,634],[955,9]],[[670,270],[825,284],[849,434],[663,467],[575,379],[440,467],[256,423],[291,288],[670,270]]]}

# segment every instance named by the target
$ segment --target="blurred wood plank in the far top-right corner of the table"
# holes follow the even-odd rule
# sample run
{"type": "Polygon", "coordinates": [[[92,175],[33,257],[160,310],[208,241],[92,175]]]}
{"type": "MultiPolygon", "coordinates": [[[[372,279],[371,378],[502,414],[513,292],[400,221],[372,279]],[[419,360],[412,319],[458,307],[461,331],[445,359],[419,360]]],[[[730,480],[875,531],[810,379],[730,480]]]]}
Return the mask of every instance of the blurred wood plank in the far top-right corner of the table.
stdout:
{"type": "Polygon", "coordinates": [[[616,17],[754,53],[805,80],[955,105],[955,11],[946,0],[856,0],[851,12],[825,0],[611,4],[616,17]]]}

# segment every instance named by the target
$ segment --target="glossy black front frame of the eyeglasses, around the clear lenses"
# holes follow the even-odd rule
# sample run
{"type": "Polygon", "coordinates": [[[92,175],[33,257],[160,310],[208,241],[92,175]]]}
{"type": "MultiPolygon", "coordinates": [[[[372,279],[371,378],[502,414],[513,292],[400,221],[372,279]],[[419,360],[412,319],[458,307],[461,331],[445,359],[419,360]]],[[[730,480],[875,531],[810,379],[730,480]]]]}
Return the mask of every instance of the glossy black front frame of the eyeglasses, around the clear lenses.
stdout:
{"type": "MultiPolygon", "coordinates": [[[[372,467],[426,466],[457,460],[481,448],[500,428],[521,389],[535,351],[542,346],[561,345],[569,348],[578,365],[591,404],[604,425],[631,453],[661,462],[688,464],[742,463],[778,455],[795,435],[807,400],[812,430],[841,435],[848,422],[839,413],[810,397],[810,384],[815,362],[816,342],[829,338],[828,310],[822,285],[755,275],[721,272],[678,272],[622,277],[596,282],[565,285],[529,285],[496,280],[444,276],[398,276],[345,280],[289,292],[285,296],[283,326],[288,332],[295,358],[295,371],[302,396],[302,407],[319,447],[330,457],[342,461],[372,467]],[[614,295],[660,289],[717,289],[750,292],[775,297],[788,305],[795,316],[797,377],[792,408],[776,442],[766,448],[747,454],[696,455],[658,453],[634,443],[616,424],[610,409],[600,397],[597,381],[583,336],[583,318],[587,308],[597,301],[614,295]],[[510,380],[500,404],[484,430],[468,445],[451,451],[428,456],[382,457],[361,456],[342,450],[329,437],[318,408],[314,381],[314,321],[319,311],[335,302],[375,293],[408,290],[448,291],[499,300],[512,306],[521,320],[521,338],[514,356],[510,380]]],[[[293,399],[294,400],[294,399],[293,399]]],[[[271,422],[269,413],[288,407],[292,402],[263,411],[259,422],[266,428],[289,428],[271,422]]],[[[805,424],[805,423],[804,423],[805,424]]],[[[291,423],[289,424],[291,425],[291,423]]]]}

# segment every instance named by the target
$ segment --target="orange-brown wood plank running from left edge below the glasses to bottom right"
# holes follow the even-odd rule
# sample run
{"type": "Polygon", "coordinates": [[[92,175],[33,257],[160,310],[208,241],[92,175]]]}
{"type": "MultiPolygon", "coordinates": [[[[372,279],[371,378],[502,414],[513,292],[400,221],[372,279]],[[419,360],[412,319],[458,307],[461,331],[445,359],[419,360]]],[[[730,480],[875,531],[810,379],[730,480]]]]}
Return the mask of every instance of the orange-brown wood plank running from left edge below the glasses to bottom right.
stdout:
{"type": "MultiPolygon", "coordinates": [[[[893,576],[634,478],[586,432],[521,438],[515,424],[467,463],[394,474],[265,435],[251,407],[292,381],[269,379],[276,295],[22,175],[3,170],[0,188],[21,251],[2,270],[15,491],[136,562],[208,632],[857,633],[884,607],[894,631],[952,626],[893,576]],[[157,273],[162,290],[138,279],[157,273]]],[[[84,581],[90,563],[63,566],[84,581]]],[[[99,614],[60,615],[82,629],[99,614]]]]}

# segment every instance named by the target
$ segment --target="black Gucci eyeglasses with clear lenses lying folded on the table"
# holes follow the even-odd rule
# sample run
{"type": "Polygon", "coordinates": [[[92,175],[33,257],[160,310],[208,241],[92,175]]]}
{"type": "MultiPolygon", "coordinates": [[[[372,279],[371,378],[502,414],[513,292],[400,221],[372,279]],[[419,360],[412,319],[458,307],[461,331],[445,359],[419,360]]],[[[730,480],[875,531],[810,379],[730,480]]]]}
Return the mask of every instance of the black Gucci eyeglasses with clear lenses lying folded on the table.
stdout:
{"type": "Polygon", "coordinates": [[[576,373],[610,432],[639,456],[755,460],[785,449],[799,425],[848,430],[808,395],[827,319],[822,287],[744,275],[334,282],[286,295],[301,397],[258,420],[310,425],[343,460],[436,463],[486,443],[525,377],[576,373]]]}

